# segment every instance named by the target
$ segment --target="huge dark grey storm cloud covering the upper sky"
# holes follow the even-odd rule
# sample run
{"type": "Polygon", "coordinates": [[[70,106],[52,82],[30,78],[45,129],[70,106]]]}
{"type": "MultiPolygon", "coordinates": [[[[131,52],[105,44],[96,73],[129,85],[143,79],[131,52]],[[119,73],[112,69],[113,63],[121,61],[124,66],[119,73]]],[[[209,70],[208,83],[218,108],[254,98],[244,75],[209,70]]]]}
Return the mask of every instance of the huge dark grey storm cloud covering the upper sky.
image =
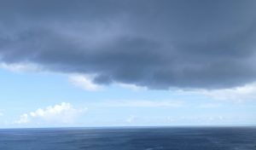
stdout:
{"type": "Polygon", "coordinates": [[[256,1],[1,1],[0,58],[97,84],[225,88],[256,79],[256,1]]]}

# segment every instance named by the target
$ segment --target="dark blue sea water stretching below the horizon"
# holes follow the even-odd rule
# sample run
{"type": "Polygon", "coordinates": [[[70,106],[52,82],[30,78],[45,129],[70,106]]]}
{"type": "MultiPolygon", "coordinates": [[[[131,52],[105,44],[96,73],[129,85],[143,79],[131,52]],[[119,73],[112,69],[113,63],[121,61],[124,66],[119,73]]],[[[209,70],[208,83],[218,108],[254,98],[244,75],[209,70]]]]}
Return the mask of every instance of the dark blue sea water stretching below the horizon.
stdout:
{"type": "Polygon", "coordinates": [[[0,130],[0,150],[256,150],[256,128],[0,130]]]}

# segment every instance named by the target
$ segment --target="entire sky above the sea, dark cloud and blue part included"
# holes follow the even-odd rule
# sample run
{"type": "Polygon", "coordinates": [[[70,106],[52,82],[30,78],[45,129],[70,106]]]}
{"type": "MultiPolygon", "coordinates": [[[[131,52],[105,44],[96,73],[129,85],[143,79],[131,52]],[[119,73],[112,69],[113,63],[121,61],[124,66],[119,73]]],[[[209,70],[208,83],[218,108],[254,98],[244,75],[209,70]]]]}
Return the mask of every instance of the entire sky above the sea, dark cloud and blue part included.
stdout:
{"type": "Polygon", "coordinates": [[[256,125],[255,7],[3,0],[0,128],[256,125]]]}

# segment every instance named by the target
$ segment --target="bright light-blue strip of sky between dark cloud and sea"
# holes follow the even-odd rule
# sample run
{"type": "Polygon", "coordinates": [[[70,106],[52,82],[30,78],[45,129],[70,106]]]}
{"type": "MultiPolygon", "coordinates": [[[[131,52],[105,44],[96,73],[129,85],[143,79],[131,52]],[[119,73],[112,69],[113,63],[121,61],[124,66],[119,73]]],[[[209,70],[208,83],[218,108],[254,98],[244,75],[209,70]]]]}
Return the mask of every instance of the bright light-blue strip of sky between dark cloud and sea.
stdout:
{"type": "Polygon", "coordinates": [[[202,89],[157,90],[119,84],[84,89],[69,79],[78,75],[61,73],[2,68],[0,75],[1,128],[256,123],[255,102],[239,99],[253,98],[255,93],[242,95],[239,89],[231,94],[224,91],[224,100],[224,95],[212,96],[202,89]],[[230,95],[237,96],[229,100],[230,95]]]}

